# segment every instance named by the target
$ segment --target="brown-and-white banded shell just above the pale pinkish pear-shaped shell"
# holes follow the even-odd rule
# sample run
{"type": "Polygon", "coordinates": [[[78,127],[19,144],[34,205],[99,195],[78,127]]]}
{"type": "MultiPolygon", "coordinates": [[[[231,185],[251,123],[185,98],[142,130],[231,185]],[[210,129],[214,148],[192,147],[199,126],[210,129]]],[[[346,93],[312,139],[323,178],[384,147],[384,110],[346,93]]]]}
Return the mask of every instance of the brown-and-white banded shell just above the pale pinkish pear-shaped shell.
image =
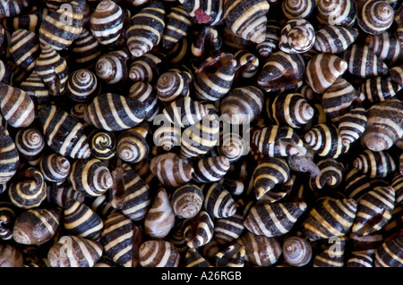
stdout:
{"type": "Polygon", "coordinates": [[[167,186],[178,187],[192,180],[193,166],[186,163],[179,155],[167,153],[157,155],[150,161],[150,171],[159,181],[167,186]]]}

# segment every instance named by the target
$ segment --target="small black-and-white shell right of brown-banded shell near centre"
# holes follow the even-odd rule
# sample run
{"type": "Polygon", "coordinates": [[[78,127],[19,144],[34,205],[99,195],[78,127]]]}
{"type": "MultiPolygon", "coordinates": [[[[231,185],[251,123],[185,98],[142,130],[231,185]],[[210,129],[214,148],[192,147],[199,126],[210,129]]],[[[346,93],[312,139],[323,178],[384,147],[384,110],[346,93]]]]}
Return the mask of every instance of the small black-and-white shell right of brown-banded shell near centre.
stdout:
{"type": "Polygon", "coordinates": [[[204,157],[193,163],[193,180],[199,183],[216,182],[227,174],[229,164],[225,156],[204,157]]]}

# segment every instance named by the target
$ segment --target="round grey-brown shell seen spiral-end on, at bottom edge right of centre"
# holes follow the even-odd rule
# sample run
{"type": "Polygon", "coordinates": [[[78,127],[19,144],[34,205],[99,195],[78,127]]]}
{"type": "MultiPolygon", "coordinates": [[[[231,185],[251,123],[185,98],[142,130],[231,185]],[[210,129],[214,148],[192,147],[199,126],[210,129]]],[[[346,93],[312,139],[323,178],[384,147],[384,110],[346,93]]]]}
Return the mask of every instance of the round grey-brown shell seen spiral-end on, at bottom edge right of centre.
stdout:
{"type": "Polygon", "coordinates": [[[311,244],[306,239],[296,236],[284,239],[281,250],[287,264],[296,267],[308,264],[313,255],[311,244]]]}

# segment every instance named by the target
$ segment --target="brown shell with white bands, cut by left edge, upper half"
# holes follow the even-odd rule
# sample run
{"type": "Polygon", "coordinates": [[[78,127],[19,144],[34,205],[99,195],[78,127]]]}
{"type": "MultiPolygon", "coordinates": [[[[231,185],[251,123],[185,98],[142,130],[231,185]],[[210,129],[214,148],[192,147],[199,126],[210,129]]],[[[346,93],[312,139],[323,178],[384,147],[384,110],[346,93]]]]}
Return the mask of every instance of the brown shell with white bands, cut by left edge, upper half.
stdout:
{"type": "Polygon", "coordinates": [[[28,127],[35,119],[34,103],[20,88],[0,82],[0,105],[4,120],[13,128],[28,127]]]}

